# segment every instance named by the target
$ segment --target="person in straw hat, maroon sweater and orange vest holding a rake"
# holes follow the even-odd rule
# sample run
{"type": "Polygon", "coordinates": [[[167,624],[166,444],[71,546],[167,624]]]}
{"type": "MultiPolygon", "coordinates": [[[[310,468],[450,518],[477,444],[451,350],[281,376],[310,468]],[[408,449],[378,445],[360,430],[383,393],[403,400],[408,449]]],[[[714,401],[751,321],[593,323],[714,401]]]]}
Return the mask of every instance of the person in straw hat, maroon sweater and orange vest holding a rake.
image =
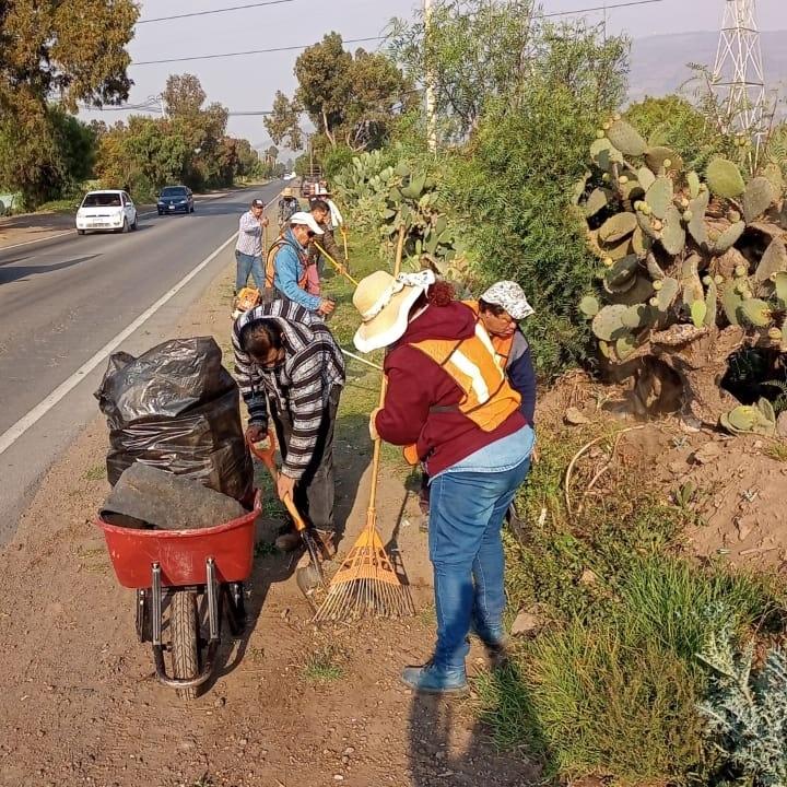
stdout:
{"type": "Polygon", "coordinates": [[[416,445],[431,477],[430,559],[437,643],[402,681],[416,691],[467,689],[471,627],[494,657],[505,653],[501,527],[530,468],[531,426],[473,310],[432,271],[396,279],[377,271],[353,296],[361,352],[388,348],[388,388],[369,433],[416,445]]]}

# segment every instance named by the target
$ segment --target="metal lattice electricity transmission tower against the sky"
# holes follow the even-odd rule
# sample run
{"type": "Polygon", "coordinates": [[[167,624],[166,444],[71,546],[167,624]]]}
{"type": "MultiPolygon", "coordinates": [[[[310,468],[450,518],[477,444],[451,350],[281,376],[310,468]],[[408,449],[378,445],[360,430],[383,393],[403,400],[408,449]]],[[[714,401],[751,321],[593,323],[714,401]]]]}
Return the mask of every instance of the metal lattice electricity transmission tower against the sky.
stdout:
{"type": "Polygon", "coordinates": [[[756,0],[724,0],[725,12],[712,84],[721,110],[721,126],[754,138],[765,132],[765,77],[756,0]]]}

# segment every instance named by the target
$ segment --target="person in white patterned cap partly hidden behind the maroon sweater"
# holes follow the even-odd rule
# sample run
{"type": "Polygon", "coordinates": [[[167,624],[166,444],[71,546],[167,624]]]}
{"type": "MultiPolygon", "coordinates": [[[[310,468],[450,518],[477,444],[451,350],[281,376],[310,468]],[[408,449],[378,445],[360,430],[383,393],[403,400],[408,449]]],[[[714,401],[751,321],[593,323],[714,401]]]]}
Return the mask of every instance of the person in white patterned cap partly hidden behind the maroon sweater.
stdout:
{"type": "MultiPolygon", "coordinates": [[[[521,397],[519,409],[525,420],[535,426],[536,369],[530,345],[519,322],[533,314],[524,290],[513,281],[500,281],[489,287],[478,301],[465,301],[486,329],[492,340],[495,360],[505,369],[510,387],[521,397]]],[[[428,474],[423,473],[419,494],[421,513],[428,516],[428,474]]]]}

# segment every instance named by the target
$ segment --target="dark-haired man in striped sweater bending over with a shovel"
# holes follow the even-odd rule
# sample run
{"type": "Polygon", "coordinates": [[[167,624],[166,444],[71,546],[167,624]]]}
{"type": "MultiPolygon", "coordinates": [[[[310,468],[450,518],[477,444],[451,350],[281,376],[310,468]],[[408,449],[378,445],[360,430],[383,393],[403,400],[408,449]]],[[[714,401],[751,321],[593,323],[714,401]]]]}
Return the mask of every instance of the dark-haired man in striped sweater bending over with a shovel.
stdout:
{"type": "MultiPolygon", "coordinates": [[[[233,327],[235,374],[249,412],[246,436],[266,438],[273,420],[283,465],[278,494],[290,496],[332,551],[333,426],[344,386],[344,359],[315,314],[287,299],[242,314],[233,327]]],[[[293,530],[277,539],[299,545],[293,530]]]]}

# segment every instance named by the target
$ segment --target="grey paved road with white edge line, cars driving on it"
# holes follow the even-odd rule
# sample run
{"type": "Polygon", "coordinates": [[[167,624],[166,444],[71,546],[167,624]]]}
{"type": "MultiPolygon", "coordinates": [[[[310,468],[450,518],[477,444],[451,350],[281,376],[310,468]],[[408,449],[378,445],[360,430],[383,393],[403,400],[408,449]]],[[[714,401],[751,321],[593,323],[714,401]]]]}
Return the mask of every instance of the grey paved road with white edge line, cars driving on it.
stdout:
{"type": "Polygon", "coordinates": [[[143,218],[136,233],[74,232],[0,250],[0,543],[13,536],[42,474],[97,414],[93,391],[107,350],[119,338],[138,353],[168,336],[232,260],[251,196],[269,201],[280,188],[205,201],[192,215],[143,218]]]}

